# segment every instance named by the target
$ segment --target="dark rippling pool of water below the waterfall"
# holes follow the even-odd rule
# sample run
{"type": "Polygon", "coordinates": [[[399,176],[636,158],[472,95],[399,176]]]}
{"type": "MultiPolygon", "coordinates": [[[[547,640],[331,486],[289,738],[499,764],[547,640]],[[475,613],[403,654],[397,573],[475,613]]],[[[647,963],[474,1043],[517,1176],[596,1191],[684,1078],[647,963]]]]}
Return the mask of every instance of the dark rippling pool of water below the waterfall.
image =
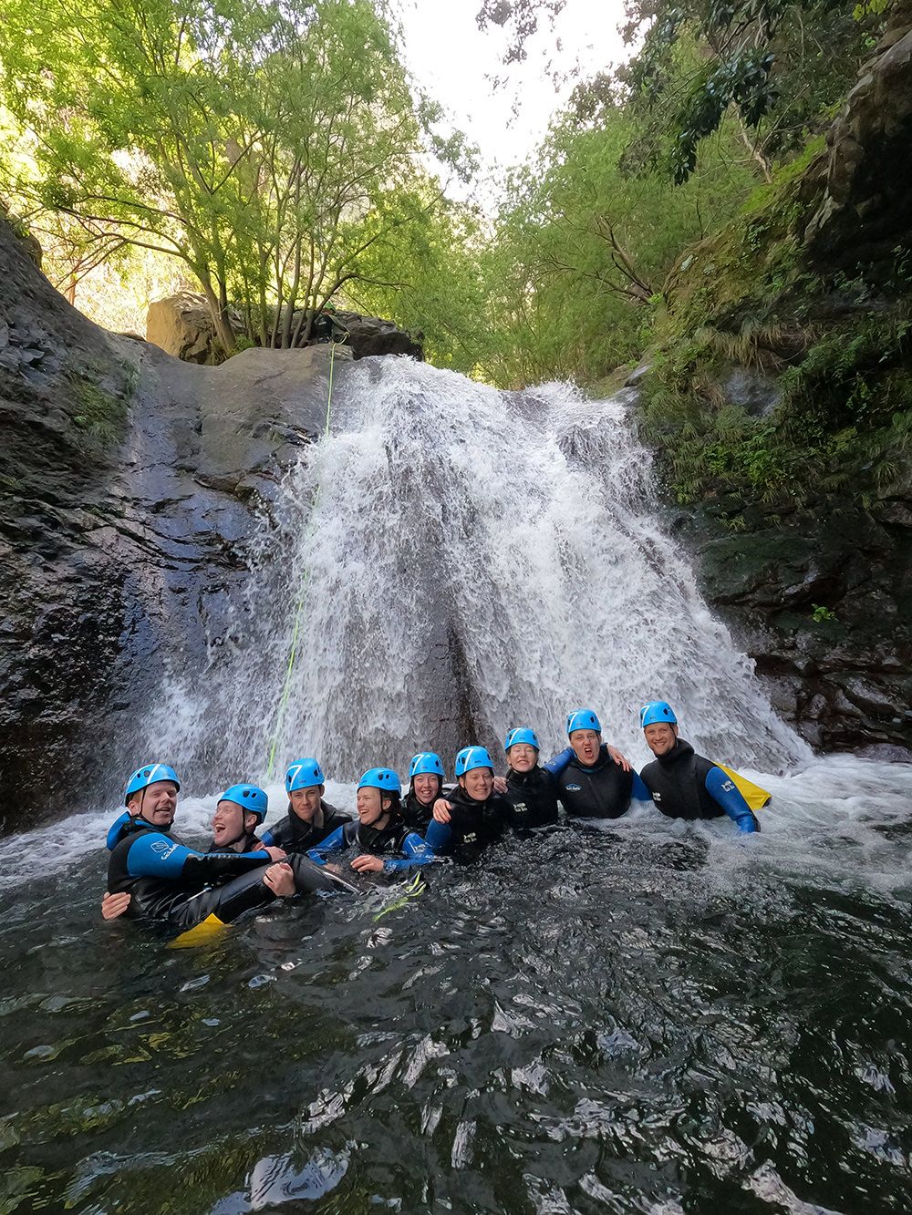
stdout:
{"type": "Polygon", "coordinates": [[[0,1210],[908,1210],[912,769],[765,781],[188,950],[102,923],[111,814],[5,838],[0,1210]]]}

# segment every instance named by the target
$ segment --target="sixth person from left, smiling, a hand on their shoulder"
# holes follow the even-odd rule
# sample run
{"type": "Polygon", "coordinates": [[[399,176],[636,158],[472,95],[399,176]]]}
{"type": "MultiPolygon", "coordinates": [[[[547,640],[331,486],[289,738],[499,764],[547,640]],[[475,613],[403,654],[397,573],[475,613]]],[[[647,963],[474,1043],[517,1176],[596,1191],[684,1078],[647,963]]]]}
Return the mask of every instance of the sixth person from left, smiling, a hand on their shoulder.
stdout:
{"type": "Polygon", "coordinates": [[[494,763],[484,747],[463,747],[456,756],[456,789],[434,806],[424,835],[435,853],[468,863],[478,860],[510,826],[512,806],[494,791],[494,763]]]}

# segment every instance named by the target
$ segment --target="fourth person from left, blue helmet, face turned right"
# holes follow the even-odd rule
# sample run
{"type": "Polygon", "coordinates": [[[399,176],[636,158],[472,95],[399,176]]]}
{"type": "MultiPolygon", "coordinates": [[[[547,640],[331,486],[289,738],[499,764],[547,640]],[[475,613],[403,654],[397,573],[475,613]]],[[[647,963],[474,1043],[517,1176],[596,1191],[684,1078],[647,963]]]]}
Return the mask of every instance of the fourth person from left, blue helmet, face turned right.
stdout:
{"type": "Polygon", "coordinates": [[[402,821],[402,786],[390,768],[370,768],[358,782],[358,818],[337,827],[308,855],[317,865],[348,848],[361,852],[351,861],[359,874],[395,874],[434,860],[424,841],[402,821]]]}

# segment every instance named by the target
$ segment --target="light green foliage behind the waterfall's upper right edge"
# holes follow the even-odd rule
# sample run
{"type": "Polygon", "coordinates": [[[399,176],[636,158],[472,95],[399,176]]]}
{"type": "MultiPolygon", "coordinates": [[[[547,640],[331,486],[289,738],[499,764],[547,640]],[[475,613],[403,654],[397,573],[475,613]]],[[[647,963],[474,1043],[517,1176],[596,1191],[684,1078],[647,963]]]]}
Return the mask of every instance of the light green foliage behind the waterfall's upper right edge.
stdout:
{"type": "MultiPolygon", "coordinates": [[[[567,114],[537,160],[516,170],[483,258],[488,343],[479,357],[499,384],[595,380],[635,364],[664,307],[665,276],[692,241],[737,208],[754,183],[732,158],[726,128],[681,190],[623,165],[636,131],[619,107],[597,128],[567,114]]],[[[484,344],[482,344],[484,346],[484,344]]]]}

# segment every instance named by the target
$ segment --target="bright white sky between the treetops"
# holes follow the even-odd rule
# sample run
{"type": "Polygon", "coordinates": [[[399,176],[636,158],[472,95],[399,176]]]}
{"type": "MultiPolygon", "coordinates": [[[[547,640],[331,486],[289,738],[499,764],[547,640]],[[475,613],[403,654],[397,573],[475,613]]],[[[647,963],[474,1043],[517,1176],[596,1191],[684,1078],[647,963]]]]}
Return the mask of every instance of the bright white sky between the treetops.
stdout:
{"type": "Polygon", "coordinates": [[[400,0],[399,7],[409,68],[478,145],[483,173],[495,183],[499,168],[534,151],[573,89],[570,80],[554,92],[548,63],[567,73],[579,61],[585,78],[630,53],[618,33],[624,0],[567,0],[553,30],[544,21],[527,44],[525,62],[508,68],[506,32],[492,26],[482,32],[475,23],[482,0],[400,0]],[[494,79],[503,77],[506,86],[495,90],[494,79]]]}

